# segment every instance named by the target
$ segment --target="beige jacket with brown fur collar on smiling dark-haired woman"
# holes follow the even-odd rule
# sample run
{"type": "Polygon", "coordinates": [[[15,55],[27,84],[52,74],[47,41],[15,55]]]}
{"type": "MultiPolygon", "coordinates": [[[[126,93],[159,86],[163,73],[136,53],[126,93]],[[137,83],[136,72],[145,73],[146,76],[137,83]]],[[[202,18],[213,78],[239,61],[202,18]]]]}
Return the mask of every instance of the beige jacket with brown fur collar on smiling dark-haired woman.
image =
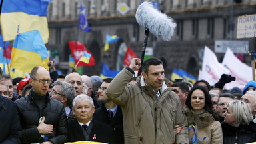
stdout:
{"type": "Polygon", "coordinates": [[[197,134],[198,144],[223,143],[221,123],[215,121],[213,115],[205,110],[197,113],[187,108],[185,111],[189,128],[191,128],[189,130],[189,143],[191,143],[195,133],[197,134]],[[195,127],[195,131],[192,127],[195,127]]]}

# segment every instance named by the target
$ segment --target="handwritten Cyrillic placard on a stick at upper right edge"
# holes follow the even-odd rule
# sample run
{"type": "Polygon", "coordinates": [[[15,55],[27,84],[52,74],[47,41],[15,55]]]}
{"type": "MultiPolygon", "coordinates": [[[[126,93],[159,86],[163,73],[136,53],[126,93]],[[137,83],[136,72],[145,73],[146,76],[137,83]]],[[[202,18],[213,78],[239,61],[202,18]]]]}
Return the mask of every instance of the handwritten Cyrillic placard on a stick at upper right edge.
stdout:
{"type": "Polygon", "coordinates": [[[243,15],[237,18],[237,39],[255,37],[256,15],[243,15]]]}

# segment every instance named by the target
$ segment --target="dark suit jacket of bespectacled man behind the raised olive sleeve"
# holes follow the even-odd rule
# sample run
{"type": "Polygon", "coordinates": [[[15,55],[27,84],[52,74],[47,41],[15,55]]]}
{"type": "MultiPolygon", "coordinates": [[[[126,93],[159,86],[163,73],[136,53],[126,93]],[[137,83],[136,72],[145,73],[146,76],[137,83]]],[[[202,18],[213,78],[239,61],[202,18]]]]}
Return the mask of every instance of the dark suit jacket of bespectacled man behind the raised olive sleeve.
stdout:
{"type": "Polygon", "coordinates": [[[115,142],[118,144],[124,143],[123,137],[123,114],[121,107],[117,106],[117,113],[112,121],[109,121],[107,108],[102,104],[100,108],[95,109],[95,113],[93,113],[94,119],[100,121],[101,123],[105,123],[113,128],[115,132],[115,142]]]}

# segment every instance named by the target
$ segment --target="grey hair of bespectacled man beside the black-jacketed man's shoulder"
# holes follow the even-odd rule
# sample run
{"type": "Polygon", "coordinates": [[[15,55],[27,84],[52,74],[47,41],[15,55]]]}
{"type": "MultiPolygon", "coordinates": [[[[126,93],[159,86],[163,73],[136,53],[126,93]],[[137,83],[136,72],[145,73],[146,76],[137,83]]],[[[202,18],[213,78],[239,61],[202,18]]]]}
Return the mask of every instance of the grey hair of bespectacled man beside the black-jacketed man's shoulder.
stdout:
{"type": "Polygon", "coordinates": [[[65,81],[55,81],[53,85],[61,86],[61,89],[59,89],[59,93],[67,97],[67,105],[70,106],[72,104],[73,99],[75,99],[75,87],[73,87],[73,85],[65,81]]]}

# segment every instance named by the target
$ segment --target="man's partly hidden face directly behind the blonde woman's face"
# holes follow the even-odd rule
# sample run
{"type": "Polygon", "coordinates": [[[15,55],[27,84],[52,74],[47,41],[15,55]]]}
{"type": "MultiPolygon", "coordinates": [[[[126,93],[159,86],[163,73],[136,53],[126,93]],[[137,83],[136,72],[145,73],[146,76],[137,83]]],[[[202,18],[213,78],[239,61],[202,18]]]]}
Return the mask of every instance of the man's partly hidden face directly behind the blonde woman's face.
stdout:
{"type": "Polygon", "coordinates": [[[227,111],[227,102],[232,101],[235,97],[231,93],[223,93],[219,95],[218,103],[218,111],[219,111],[219,122],[222,123],[224,121],[224,113],[227,111]]]}

